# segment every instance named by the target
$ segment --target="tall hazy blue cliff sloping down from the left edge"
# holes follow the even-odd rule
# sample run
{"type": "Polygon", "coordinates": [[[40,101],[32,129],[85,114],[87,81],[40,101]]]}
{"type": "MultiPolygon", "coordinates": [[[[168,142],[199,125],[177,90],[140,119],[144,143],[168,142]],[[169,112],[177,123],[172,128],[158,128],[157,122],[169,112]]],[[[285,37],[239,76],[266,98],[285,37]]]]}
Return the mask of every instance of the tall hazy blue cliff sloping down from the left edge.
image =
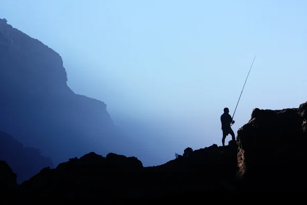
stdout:
{"type": "Polygon", "coordinates": [[[58,53],[0,19],[0,130],[55,165],[116,151],[122,140],[106,105],[75,94],[67,80],[58,53]]]}

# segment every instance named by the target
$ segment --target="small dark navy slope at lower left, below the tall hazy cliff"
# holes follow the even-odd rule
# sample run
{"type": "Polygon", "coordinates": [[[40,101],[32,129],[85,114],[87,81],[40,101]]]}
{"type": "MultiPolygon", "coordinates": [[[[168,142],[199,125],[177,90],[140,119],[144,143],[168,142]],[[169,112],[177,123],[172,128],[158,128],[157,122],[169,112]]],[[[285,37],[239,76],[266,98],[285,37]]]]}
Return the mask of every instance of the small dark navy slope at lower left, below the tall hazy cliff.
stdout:
{"type": "MultiPolygon", "coordinates": [[[[0,131],[0,160],[8,163],[17,175],[15,182],[21,183],[30,179],[43,168],[54,168],[49,157],[42,156],[40,150],[25,148],[23,144],[7,133],[0,131]]],[[[9,177],[10,178],[10,177],[9,177]]]]}

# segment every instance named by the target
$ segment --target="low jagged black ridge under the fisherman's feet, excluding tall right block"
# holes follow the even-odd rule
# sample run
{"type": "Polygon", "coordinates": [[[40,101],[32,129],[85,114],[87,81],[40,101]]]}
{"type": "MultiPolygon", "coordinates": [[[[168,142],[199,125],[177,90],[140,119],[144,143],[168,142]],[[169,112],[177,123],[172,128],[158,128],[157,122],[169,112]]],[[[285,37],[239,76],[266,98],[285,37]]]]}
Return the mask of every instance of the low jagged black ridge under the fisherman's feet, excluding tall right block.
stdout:
{"type": "MultiPolygon", "coordinates": [[[[237,147],[193,151],[157,167],[143,167],[135,157],[95,153],[72,158],[56,169],[43,169],[21,185],[23,197],[74,200],[142,200],[203,197],[204,192],[236,192],[237,147]]],[[[115,201],[113,201],[115,202],[115,201]]]]}

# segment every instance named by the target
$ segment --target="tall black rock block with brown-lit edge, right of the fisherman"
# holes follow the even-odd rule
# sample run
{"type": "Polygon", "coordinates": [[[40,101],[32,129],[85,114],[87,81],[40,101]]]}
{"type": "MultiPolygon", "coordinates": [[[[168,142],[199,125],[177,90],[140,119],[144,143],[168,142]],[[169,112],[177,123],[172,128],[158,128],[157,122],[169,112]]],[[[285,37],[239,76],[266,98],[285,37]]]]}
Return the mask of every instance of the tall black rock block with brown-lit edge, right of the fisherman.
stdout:
{"type": "Polygon", "coordinates": [[[247,192],[301,192],[306,183],[307,102],[254,109],[238,130],[238,176],[247,192]]]}

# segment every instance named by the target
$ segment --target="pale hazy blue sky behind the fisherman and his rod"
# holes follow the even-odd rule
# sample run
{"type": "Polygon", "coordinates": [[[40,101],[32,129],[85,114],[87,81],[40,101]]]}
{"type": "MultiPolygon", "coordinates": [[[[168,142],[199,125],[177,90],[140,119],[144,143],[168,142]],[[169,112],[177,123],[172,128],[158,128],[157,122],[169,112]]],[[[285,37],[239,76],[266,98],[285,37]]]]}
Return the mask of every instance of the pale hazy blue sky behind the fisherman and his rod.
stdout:
{"type": "Polygon", "coordinates": [[[220,116],[232,115],[255,53],[235,131],[253,108],[307,100],[306,10],[281,0],[0,0],[0,17],[62,56],[76,93],[114,118],[187,126],[195,147],[221,144],[220,116]]]}

